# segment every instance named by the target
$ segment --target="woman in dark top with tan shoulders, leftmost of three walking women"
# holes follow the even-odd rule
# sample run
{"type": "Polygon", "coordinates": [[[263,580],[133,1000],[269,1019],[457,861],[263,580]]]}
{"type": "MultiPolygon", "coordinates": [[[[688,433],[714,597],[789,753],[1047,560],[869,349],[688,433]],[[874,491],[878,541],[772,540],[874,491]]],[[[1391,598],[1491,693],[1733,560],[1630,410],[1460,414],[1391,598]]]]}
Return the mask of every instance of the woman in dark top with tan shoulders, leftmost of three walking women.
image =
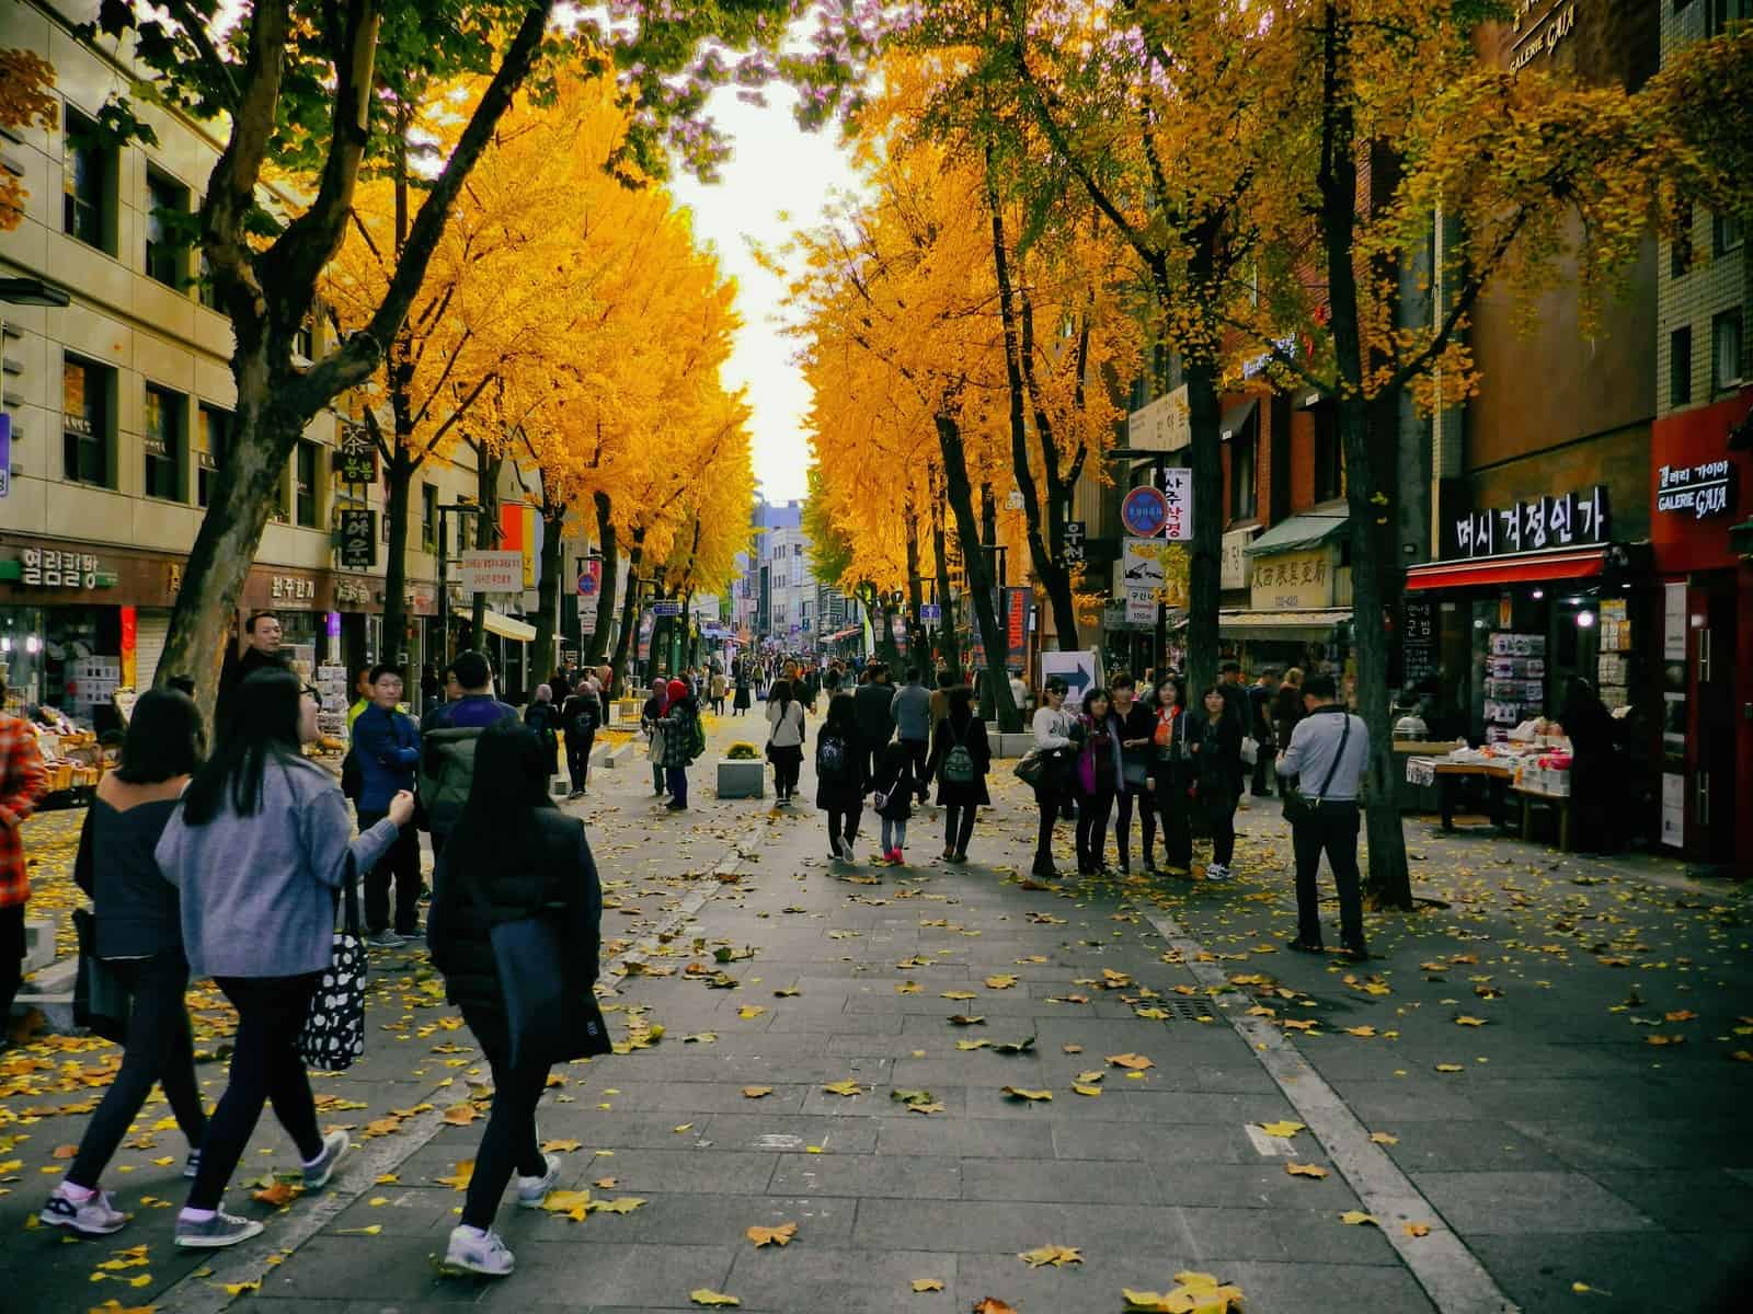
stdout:
{"type": "Polygon", "coordinates": [[[189,1037],[189,960],[182,953],[177,890],[158,869],[153,848],[202,762],[202,713],[175,690],[140,696],[121,745],[121,764],[98,781],[79,834],[74,880],[91,895],[96,955],[128,986],[128,1039],[121,1070],[86,1125],[79,1155],[42,1207],[49,1226],[105,1235],[128,1216],[110,1204],[98,1177],[153,1083],[163,1083],[177,1127],[189,1142],[193,1177],[207,1135],[207,1111],[195,1084],[189,1037]]]}

